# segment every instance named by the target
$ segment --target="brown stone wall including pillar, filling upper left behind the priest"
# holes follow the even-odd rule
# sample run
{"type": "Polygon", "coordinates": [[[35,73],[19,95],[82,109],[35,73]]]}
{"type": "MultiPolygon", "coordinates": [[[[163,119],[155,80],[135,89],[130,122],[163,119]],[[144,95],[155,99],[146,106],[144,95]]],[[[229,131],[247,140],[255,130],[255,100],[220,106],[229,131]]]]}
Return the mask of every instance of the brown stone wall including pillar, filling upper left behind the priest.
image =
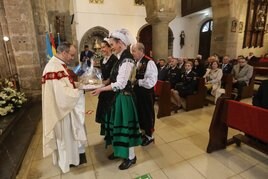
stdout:
{"type": "Polygon", "coordinates": [[[47,63],[45,35],[50,25],[55,32],[56,15],[65,17],[65,36],[61,40],[74,41],[69,8],[70,0],[1,1],[0,35],[1,39],[8,36],[10,40],[6,42],[8,55],[4,41],[0,40],[0,65],[3,67],[0,76],[8,77],[18,73],[21,90],[30,96],[39,95],[42,70],[47,63]]]}

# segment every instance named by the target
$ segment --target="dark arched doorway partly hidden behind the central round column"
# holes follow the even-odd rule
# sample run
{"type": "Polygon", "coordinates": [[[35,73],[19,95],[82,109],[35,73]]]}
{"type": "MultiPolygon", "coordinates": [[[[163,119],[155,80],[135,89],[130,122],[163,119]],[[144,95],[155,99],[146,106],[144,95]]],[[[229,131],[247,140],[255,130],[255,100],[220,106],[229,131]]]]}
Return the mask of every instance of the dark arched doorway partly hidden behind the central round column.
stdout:
{"type": "MultiPolygon", "coordinates": [[[[145,53],[149,55],[149,51],[152,50],[152,25],[150,24],[143,25],[139,29],[136,39],[138,42],[144,43],[145,53]],[[148,39],[141,39],[141,36],[143,36],[142,34],[144,30],[149,31],[150,35],[147,36],[148,39]]],[[[173,53],[173,42],[174,42],[174,34],[171,28],[168,27],[168,55],[172,55],[173,53]]]]}

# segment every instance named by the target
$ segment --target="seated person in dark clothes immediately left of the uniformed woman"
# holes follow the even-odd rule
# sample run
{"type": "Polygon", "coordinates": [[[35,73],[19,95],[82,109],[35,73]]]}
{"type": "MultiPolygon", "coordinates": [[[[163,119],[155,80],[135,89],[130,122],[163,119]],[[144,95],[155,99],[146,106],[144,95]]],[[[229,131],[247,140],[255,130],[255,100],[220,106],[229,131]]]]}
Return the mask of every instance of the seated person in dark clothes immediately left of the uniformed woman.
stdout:
{"type": "Polygon", "coordinates": [[[170,68],[167,73],[167,81],[170,83],[170,88],[174,89],[175,85],[180,82],[182,70],[178,68],[178,60],[172,58],[170,61],[170,68]]]}

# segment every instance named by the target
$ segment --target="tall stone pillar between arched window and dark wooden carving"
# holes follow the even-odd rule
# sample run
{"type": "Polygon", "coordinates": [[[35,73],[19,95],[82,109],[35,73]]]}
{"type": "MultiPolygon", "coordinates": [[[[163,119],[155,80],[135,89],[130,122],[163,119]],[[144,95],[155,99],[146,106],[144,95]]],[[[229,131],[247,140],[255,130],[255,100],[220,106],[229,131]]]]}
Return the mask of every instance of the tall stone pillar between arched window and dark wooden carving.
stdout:
{"type": "Polygon", "coordinates": [[[241,46],[239,44],[239,33],[231,32],[233,20],[237,22],[242,18],[242,7],[247,5],[244,0],[222,1],[211,0],[213,12],[213,33],[211,37],[210,52],[219,55],[230,55],[231,58],[237,57],[237,52],[241,46]]]}

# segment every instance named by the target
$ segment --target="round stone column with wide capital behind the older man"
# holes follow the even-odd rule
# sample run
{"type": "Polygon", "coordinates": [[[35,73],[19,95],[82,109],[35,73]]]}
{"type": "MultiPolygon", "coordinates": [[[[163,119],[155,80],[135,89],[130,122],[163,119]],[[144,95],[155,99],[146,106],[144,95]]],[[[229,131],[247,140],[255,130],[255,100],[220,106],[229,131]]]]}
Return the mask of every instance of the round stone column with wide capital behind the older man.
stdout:
{"type": "Polygon", "coordinates": [[[168,57],[168,24],[177,15],[176,0],[146,0],[147,17],[152,25],[152,50],[155,59],[168,57]]]}

